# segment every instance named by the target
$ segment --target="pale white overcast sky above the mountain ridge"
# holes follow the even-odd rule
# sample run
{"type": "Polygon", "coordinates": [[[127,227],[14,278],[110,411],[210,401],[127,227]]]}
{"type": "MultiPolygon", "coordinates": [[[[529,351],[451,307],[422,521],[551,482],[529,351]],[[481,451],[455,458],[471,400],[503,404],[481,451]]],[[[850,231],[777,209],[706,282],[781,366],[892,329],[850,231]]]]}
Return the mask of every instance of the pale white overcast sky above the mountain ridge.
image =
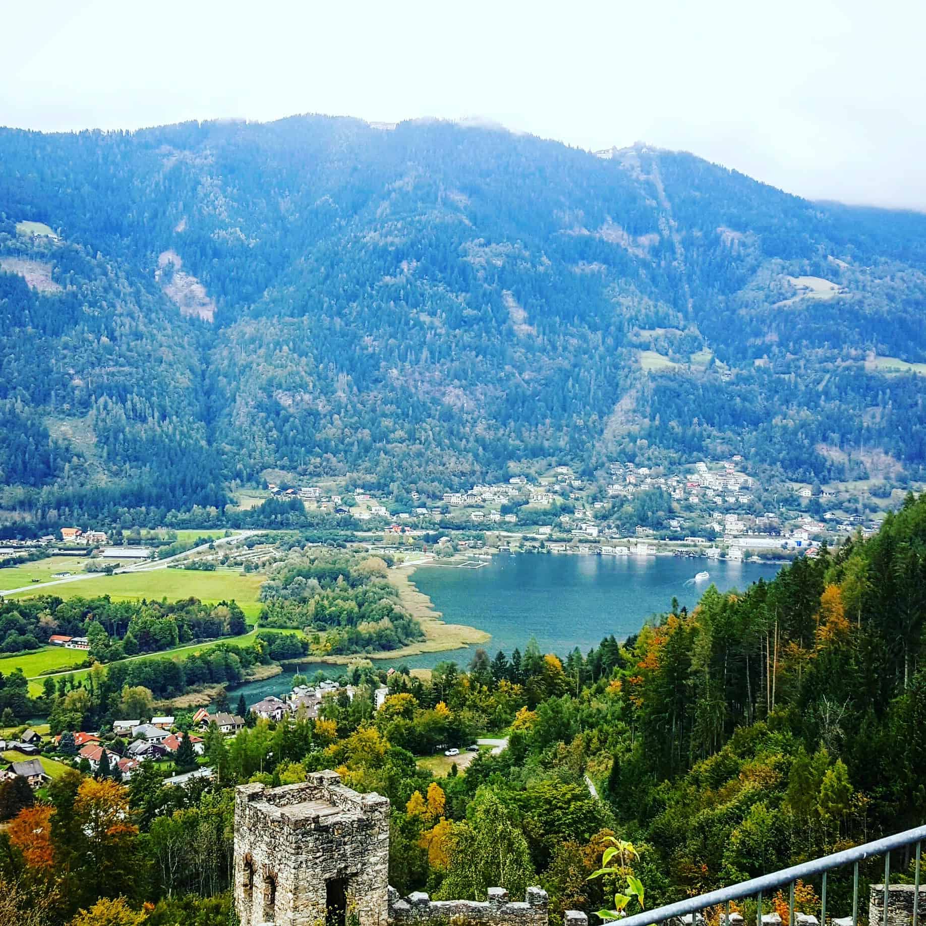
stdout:
{"type": "Polygon", "coordinates": [[[5,5],[0,125],[481,116],[926,209],[923,0],[5,5]]]}

